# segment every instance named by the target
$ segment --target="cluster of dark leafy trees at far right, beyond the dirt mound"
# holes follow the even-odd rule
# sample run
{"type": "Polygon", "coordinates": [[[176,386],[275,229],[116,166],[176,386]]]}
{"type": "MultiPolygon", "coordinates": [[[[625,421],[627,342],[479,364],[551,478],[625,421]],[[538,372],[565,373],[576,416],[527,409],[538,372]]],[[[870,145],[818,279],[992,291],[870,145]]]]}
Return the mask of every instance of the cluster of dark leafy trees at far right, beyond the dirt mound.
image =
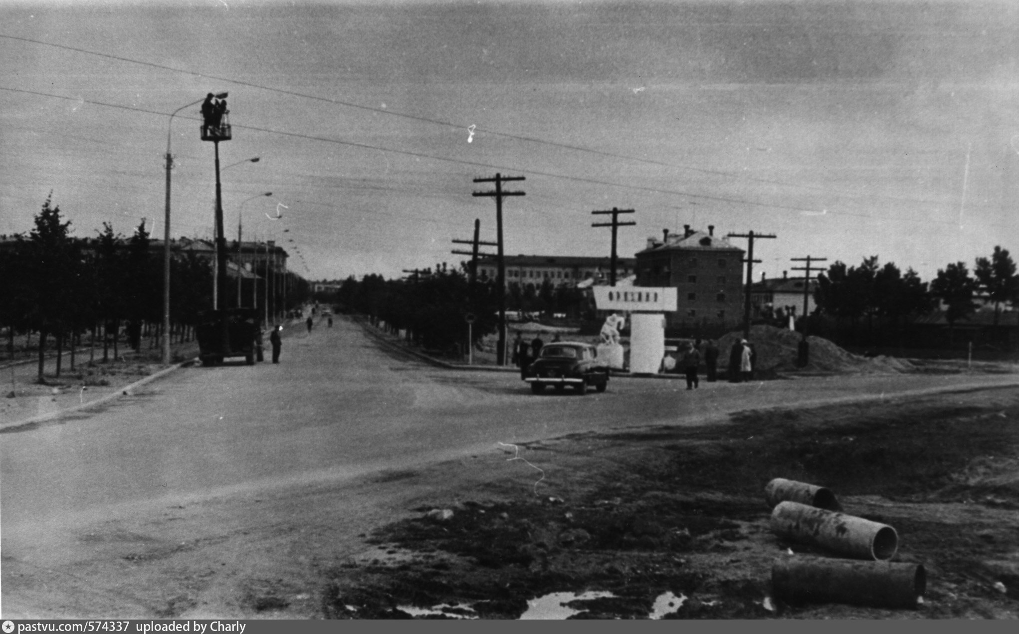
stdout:
{"type": "Polygon", "coordinates": [[[1019,303],[1016,264],[1001,247],[995,247],[990,258],[977,258],[972,273],[966,263],[954,262],[938,269],[929,283],[912,268],[904,273],[893,262],[879,265],[877,256],[859,266],[836,262],[817,282],[818,313],[848,324],[850,338],[860,338],[860,325],[866,322],[864,338],[871,341],[900,339],[911,320],[942,307],[951,338],[955,325],[979,308],[978,298],[993,304],[998,326],[1002,307],[1019,303]]]}

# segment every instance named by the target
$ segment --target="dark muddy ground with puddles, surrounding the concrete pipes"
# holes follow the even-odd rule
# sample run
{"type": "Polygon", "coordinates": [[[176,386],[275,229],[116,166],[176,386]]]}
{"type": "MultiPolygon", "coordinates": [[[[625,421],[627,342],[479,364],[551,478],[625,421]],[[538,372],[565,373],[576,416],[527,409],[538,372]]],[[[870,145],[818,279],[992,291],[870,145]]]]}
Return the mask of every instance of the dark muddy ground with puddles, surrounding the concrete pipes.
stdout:
{"type": "Polygon", "coordinates": [[[516,477],[418,498],[326,567],[322,616],[516,619],[536,597],[589,592],[553,603],[574,619],[1016,618],[1017,421],[1019,389],[984,389],[505,445],[493,460],[516,477]],[[835,557],[772,535],[774,477],[827,486],[846,513],[892,525],[895,561],[926,569],[922,603],[772,597],[776,557],[835,557]]]}

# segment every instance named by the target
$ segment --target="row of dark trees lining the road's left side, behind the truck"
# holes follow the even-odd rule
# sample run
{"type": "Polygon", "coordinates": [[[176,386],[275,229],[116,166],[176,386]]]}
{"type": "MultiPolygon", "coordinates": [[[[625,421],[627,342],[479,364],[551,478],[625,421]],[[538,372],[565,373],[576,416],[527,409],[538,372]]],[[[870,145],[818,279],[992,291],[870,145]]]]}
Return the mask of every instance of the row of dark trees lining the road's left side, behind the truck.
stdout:
{"type": "MultiPolygon", "coordinates": [[[[163,261],[150,249],[150,235],[140,224],[129,239],[109,223],[92,239],[71,235],[71,223],[47,198],[28,235],[14,236],[13,247],[0,250],[0,325],[14,352],[14,334],[39,333],[39,376],[47,341],[53,337],[58,353],[66,340],[97,331],[103,341],[103,360],[109,345],[118,355],[121,327],[128,345],[138,351],[144,331],[158,341],[163,318],[163,261]],[[110,331],[113,336],[106,336],[110,331]]],[[[292,276],[292,274],[291,274],[292,276]]],[[[297,276],[293,276],[297,277],[297,276]]],[[[289,283],[287,300],[296,305],[307,297],[307,283],[289,283]]],[[[212,308],[212,263],[193,253],[173,254],[170,260],[170,334],[190,338],[199,313],[212,308]]],[[[280,307],[282,308],[282,306],[280,307]]],[[[95,340],[95,338],[93,338],[95,340]]],[[[57,374],[61,355],[57,357],[57,374]]]]}

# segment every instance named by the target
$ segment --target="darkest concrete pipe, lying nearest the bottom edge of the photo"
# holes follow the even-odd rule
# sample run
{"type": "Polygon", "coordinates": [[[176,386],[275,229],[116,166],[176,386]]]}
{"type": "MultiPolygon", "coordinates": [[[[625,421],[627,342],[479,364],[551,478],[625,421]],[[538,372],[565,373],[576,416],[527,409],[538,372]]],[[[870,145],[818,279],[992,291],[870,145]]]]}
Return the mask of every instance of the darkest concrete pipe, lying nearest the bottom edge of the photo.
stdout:
{"type": "Polygon", "coordinates": [[[920,564],[783,557],[771,565],[771,592],[791,603],[915,609],[926,588],[920,564]]]}

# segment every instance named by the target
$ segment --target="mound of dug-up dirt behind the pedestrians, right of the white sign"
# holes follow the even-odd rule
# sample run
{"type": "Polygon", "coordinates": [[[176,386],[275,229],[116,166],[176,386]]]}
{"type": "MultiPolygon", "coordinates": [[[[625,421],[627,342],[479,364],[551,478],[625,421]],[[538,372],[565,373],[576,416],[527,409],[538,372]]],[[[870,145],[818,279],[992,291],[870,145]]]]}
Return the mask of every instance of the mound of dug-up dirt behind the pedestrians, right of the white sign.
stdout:
{"type": "MultiPolygon", "coordinates": [[[[718,339],[718,350],[721,351],[718,358],[719,369],[729,367],[729,352],[733,344],[742,338],[743,332],[735,331],[718,339]]],[[[752,326],[747,340],[757,352],[757,366],[754,371],[761,373],[762,376],[768,376],[775,372],[792,371],[884,374],[913,370],[912,364],[908,361],[883,356],[861,357],[819,336],[807,337],[807,342],[810,345],[810,361],[806,367],[800,368],[797,367],[796,361],[802,338],[799,332],[785,328],[752,326]]]]}

